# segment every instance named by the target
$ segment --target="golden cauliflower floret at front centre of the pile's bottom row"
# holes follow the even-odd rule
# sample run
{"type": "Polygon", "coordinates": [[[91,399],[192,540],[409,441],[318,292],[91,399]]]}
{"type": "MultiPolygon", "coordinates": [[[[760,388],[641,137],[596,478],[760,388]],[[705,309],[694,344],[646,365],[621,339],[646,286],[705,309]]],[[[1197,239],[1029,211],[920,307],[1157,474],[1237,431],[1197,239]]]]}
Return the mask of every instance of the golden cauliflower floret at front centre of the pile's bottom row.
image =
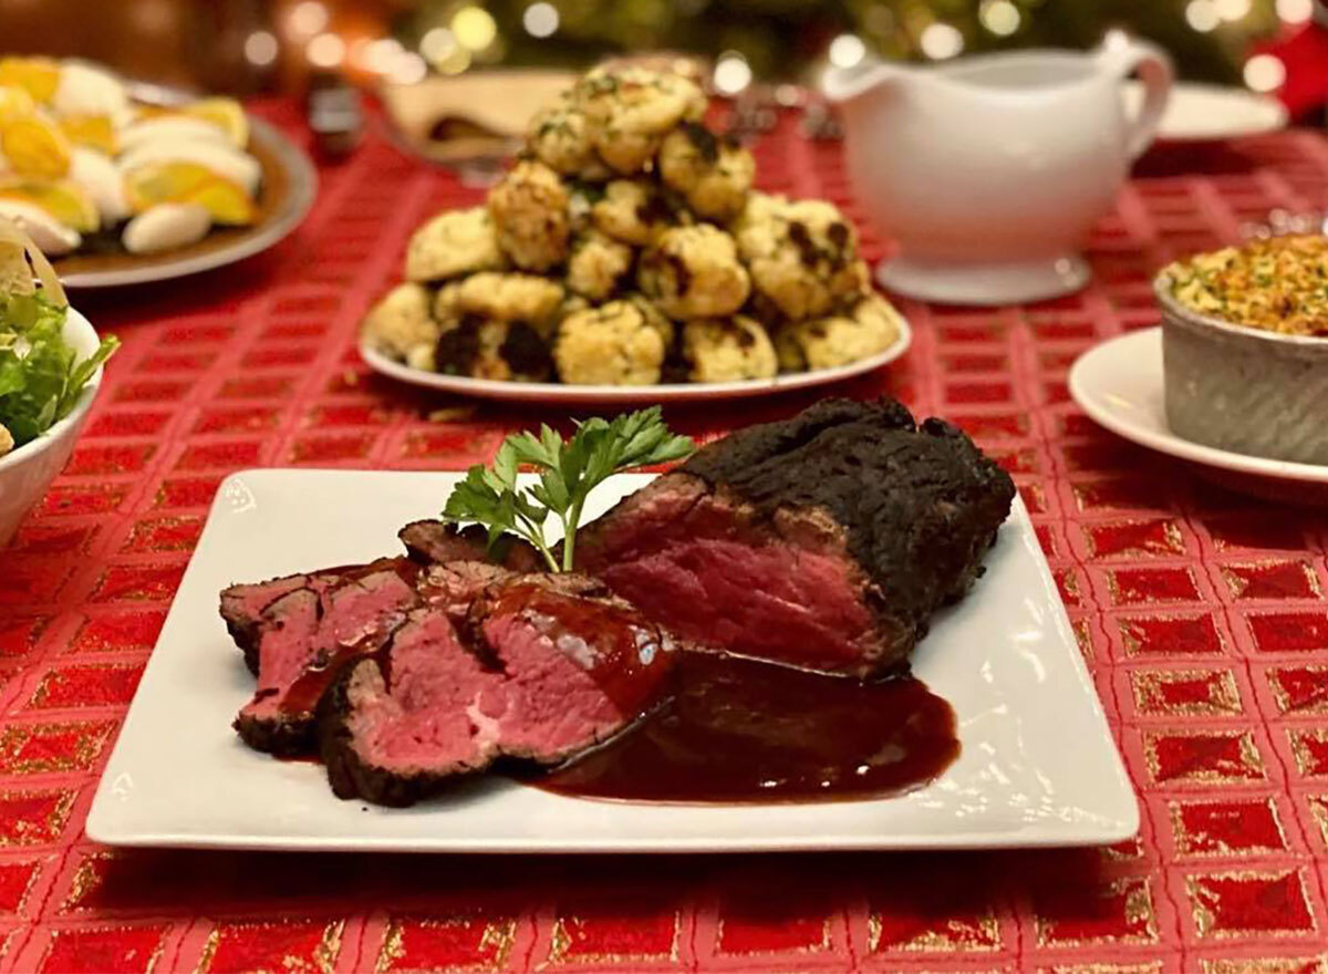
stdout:
{"type": "Polygon", "coordinates": [[[665,330],[645,307],[615,300],[564,318],[554,361],[572,385],[653,385],[667,351],[665,330]]]}

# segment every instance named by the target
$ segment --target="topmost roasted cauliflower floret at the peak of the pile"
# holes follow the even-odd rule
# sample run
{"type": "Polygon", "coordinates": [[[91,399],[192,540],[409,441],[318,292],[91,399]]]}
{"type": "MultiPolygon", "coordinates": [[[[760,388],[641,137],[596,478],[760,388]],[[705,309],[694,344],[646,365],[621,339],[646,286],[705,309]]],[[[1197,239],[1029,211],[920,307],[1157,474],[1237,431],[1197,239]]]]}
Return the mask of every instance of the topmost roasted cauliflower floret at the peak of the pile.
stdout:
{"type": "Polygon", "coordinates": [[[596,69],[576,88],[599,155],[619,173],[639,173],[679,122],[705,114],[705,94],[677,74],[644,68],[596,69]]]}

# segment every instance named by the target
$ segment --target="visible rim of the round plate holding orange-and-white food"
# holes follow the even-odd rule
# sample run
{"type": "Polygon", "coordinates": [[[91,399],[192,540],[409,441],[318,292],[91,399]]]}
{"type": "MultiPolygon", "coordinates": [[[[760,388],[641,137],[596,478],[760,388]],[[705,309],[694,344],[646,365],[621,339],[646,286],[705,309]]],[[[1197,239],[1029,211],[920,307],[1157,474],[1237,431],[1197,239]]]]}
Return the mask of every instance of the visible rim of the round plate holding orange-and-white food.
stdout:
{"type": "Polygon", "coordinates": [[[319,175],[309,157],[260,118],[250,116],[251,151],[263,163],[266,193],[259,223],[243,231],[230,230],[199,243],[162,254],[82,255],[57,262],[65,287],[125,287],[183,278],[236,263],[275,247],[291,234],[313,206],[319,175]]]}

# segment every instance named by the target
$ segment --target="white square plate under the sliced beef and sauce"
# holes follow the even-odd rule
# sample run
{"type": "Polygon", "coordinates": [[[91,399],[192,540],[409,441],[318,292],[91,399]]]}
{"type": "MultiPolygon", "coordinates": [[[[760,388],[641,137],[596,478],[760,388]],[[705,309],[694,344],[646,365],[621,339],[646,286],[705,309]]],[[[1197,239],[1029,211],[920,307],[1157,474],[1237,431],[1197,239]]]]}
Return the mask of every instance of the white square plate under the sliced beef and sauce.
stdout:
{"type": "MultiPolygon", "coordinates": [[[[598,514],[648,481],[624,474],[598,514]]],[[[493,779],[410,809],[341,801],[323,768],[246,748],[231,719],[254,678],[218,593],[368,561],[436,516],[446,473],[252,470],[226,480],[88,816],[110,845],[393,852],[722,852],[1090,845],[1126,838],[1138,807],[1065,610],[1016,501],[987,574],[944,611],[914,668],[954,706],[963,751],[887,800],[649,805],[493,779]]]]}

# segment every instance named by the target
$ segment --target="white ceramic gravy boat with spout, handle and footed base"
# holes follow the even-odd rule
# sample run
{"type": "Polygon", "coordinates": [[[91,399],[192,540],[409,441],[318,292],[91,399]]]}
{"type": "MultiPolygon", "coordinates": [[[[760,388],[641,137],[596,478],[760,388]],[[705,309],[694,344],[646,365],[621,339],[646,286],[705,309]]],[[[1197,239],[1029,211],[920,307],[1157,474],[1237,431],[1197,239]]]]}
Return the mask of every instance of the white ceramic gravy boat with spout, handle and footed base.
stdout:
{"type": "Polygon", "coordinates": [[[927,300],[1005,304],[1089,279],[1078,255],[1153,141],[1171,62],[1120,33],[1090,53],[1020,50],[930,66],[831,68],[854,193],[899,244],[886,287],[927,300]],[[1122,81],[1146,97],[1126,118],[1122,81]]]}

